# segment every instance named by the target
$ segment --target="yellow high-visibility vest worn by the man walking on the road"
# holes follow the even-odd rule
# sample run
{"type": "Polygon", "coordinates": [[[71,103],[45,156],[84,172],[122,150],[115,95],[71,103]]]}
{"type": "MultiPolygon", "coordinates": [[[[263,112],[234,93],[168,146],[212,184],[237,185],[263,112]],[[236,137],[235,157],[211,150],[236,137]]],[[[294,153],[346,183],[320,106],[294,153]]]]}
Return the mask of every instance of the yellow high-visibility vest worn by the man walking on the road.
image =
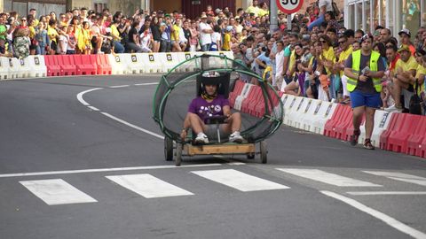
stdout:
{"type": "MultiPolygon", "coordinates": [[[[378,69],[378,61],[380,59],[380,53],[372,50],[371,51],[371,57],[370,57],[370,72],[375,73],[378,69]]],[[[359,64],[361,63],[361,50],[356,50],[352,52],[352,73],[355,75],[360,74],[359,64]]],[[[349,92],[352,92],[357,88],[358,79],[352,79],[348,77],[348,83],[346,84],[346,89],[349,90],[349,92]]],[[[373,85],[375,86],[375,91],[381,92],[382,91],[382,83],[380,78],[373,78],[373,85]]]]}

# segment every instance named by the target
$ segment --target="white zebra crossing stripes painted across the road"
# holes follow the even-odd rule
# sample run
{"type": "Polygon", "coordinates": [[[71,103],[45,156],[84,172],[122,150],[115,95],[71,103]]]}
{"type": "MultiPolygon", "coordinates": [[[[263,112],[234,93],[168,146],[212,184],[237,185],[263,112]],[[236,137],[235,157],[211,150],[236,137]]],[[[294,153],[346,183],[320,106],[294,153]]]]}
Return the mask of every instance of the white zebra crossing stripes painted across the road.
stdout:
{"type": "MultiPolygon", "coordinates": [[[[360,181],[335,173],[327,173],[319,169],[309,168],[276,168],[282,173],[289,173],[310,181],[319,181],[336,187],[383,187],[369,181],[360,181]]],[[[426,178],[412,174],[398,172],[361,171],[391,180],[406,181],[426,186],[426,178]]],[[[359,173],[361,173],[359,172],[359,173]]],[[[227,187],[238,189],[242,192],[290,189],[288,186],[262,179],[260,177],[243,173],[235,169],[199,170],[191,171],[209,181],[220,183],[227,187]]],[[[362,177],[360,175],[360,177],[362,177]]],[[[114,181],[124,189],[129,189],[146,198],[156,197],[178,197],[193,196],[193,192],[182,189],[167,181],[163,181],[152,174],[126,174],[105,176],[106,179],[114,181]]],[[[186,181],[187,179],[183,180],[186,181]]],[[[75,186],[62,179],[48,179],[37,181],[20,181],[26,189],[43,200],[48,205],[55,204],[83,204],[98,202],[93,197],[84,193],[75,186]]],[[[78,187],[78,186],[77,186],[78,187]]],[[[184,186],[185,187],[185,186],[184,186]]],[[[352,192],[349,192],[350,194],[352,192]]],[[[380,192],[353,192],[353,195],[424,195],[426,192],[407,191],[380,191],[380,192]]],[[[99,199],[99,198],[98,198],[99,199]]]]}

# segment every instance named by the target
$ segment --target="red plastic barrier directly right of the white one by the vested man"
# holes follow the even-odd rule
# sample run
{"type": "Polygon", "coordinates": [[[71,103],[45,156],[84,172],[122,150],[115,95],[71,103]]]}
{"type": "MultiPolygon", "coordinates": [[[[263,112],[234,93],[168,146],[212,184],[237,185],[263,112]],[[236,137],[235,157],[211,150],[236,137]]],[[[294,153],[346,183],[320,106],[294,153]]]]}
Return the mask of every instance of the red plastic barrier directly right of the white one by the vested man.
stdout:
{"type": "Polygon", "coordinates": [[[398,114],[397,122],[394,127],[388,128],[390,134],[387,139],[385,150],[392,150],[395,152],[406,152],[406,141],[409,135],[414,135],[417,123],[422,116],[414,114],[398,114]]]}

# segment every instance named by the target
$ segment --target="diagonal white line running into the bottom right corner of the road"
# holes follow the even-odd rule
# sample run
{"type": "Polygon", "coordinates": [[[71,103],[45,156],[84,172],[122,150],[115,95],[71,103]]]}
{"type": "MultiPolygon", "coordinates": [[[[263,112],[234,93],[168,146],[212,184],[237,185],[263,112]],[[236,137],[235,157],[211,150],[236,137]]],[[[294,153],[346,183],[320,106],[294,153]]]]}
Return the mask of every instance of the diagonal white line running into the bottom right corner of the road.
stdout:
{"type": "Polygon", "coordinates": [[[322,194],[327,195],[328,197],[333,197],[339,201],[342,201],[345,204],[349,204],[359,211],[366,212],[367,214],[375,217],[378,220],[382,220],[384,223],[388,224],[390,227],[394,227],[398,231],[405,233],[406,235],[411,235],[417,239],[426,239],[426,234],[422,233],[414,229],[413,227],[408,227],[406,224],[391,218],[390,216],[384,214],[383,212],[379,212],[371,207],[368,207],[365,204],[361,204],[358,201],[355,201],[349,197],[344,197],[342,195],[336,194],[330,191],[320,191],[322,194]]]}

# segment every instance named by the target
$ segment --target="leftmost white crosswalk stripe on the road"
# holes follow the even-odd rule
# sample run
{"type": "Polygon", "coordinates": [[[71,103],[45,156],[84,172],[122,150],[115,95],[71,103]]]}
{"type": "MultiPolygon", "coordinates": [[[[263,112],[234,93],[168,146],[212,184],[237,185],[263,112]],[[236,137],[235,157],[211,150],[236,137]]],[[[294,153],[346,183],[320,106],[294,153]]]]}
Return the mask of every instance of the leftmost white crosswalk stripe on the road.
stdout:
{"type": "Polygon", "coordinates": [[[30,192],[39,197],[48,205],[83,204],[98,202],[83,193],[67,181],[61,179],[20,181],[30,192]]]}

